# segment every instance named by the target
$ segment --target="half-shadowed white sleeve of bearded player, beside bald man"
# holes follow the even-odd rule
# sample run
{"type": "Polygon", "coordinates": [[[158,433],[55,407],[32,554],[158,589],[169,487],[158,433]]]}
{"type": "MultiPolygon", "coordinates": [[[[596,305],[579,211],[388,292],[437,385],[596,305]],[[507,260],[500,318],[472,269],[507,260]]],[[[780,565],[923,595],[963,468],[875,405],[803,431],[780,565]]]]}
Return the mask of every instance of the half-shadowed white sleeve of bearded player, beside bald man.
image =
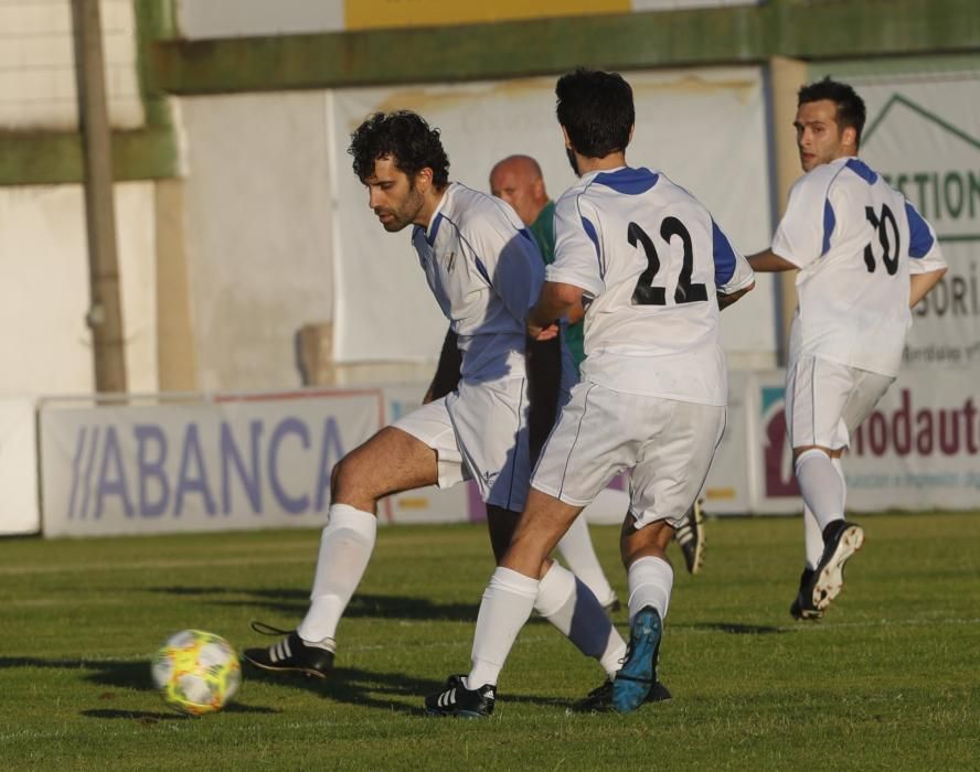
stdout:
{"type": "Polygon", "coordinates": [[[514,318],[524,322],[537,300],[544,280],[544,260],[526,229],[516,229],[505,217],[484,217],[467,234],[483,278],[514,318]]]}

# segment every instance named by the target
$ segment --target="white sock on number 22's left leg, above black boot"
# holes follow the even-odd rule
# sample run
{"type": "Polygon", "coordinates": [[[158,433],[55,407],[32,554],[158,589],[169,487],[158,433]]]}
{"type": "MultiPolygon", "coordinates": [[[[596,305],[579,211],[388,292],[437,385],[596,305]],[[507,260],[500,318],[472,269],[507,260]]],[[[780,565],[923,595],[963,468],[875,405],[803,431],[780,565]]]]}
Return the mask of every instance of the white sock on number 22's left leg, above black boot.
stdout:
{"type": "Polygon", "coordinates": [[[531,616],[539,585],[537,579],[509,568],[498,567],[493,571],[480,601],[473,635],[473,666],[467,676],[467,688],[497,684],[518,633],[531,616]]]}

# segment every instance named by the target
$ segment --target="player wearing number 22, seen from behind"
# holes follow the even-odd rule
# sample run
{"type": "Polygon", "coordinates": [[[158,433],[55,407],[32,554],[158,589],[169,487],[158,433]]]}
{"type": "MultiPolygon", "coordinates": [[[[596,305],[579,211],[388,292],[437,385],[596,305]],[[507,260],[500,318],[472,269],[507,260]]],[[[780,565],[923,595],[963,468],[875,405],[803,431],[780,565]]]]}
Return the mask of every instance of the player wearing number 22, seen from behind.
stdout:
{"type": "Polygon", "coordinates": [[[754,275],[690,193],[626,165],[632,89],[577,69],[555,88],[578,185],[555,210],[555,261],[528,320],[532,337],[588,301],[586,360],[542,451],[510,548],[480,604],[472,668],[426,699],[436,714],[484,715],[486,695],[531,614],[548,553],[616,474],[630,472],[620,538],[630,641],[588,707],[628,712],[658,694],[657,657],[673,571],[664,549],[693,504],[722,437],[727,404],[718,310],[754,275]]]}

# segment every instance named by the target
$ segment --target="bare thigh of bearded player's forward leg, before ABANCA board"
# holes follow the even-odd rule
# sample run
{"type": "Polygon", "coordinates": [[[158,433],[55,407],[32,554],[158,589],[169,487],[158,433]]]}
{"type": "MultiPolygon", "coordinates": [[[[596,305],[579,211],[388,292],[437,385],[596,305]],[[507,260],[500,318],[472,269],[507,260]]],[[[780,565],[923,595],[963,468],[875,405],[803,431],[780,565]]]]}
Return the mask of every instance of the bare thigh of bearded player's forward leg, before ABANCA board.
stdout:
{"type": "Polygon", "coordinates": [[[341,502],[359,496],[379,498],[435,481],[433,449],[395,425],[385,427],[340,460],[334,469],[333,495],[341,502]]]}

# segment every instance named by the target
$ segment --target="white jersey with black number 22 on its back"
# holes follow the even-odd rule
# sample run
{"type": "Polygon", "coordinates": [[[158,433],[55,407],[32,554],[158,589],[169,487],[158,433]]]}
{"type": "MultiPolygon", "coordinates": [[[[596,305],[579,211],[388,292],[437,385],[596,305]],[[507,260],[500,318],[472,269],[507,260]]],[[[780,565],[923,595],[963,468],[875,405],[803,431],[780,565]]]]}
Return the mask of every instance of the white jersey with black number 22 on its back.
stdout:
{"type": "Polygon", "coordinates": [[[555,207],[548,281],[580,287],[583,380],[724,406],[716,289],[752,285],[746,259],[694,196],[649,169],[589,172],[555,207]]]}

